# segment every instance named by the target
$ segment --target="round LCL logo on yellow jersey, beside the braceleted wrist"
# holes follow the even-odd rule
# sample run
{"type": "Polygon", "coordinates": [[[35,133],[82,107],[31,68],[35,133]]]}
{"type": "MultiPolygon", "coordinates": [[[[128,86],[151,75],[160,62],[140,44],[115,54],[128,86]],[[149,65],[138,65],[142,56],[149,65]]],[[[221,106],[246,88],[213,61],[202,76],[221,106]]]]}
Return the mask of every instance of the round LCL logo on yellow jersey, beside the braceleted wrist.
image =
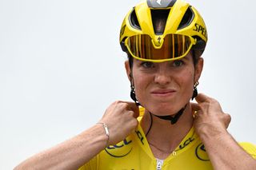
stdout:
{"type": "Polygon", "coordinates": [[[105,151],[107,154],[113,157],[124,157],[127,156],[131,150],[132,150],[132,140],[122,140],[122,142],[119,142],[115,145],[110,145],[109,147],[105,148],[105,151]],[[122,149],[120,149],[122,148],[122,149]]]}

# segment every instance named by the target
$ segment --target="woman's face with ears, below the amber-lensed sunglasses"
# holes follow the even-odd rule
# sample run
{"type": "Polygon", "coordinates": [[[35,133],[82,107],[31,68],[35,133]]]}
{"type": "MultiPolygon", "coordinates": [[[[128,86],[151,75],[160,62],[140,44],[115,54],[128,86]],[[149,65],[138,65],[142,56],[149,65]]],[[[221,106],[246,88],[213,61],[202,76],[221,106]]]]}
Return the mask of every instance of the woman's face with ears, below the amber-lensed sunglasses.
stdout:
{"type": "Polygon", "coordinates": [[[132,72],[126,62],[126,73],[133,81],[136,97],[142,106],[159,116],[173,115],[190,101],[202,65],[203,59],[200,58],[194,67],[189,53],[182,60],[160,63],[134,59],[132,72]]]}

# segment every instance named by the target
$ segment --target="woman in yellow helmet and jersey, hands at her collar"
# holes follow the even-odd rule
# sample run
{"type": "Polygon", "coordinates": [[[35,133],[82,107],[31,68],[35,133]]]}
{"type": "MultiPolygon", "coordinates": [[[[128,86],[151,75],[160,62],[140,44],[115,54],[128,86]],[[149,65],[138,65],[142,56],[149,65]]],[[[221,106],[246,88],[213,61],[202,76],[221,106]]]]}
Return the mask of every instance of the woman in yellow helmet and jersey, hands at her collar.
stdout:
{"type": "Polygon", "coordinates": [[[134,102],[114,102],[97,125],[16,169],[256,169],[254,144],[241,147],[226,131],[230,115],[197,93],[206,42],[188,3],[135,6],[120,32],[134,102]]]}

